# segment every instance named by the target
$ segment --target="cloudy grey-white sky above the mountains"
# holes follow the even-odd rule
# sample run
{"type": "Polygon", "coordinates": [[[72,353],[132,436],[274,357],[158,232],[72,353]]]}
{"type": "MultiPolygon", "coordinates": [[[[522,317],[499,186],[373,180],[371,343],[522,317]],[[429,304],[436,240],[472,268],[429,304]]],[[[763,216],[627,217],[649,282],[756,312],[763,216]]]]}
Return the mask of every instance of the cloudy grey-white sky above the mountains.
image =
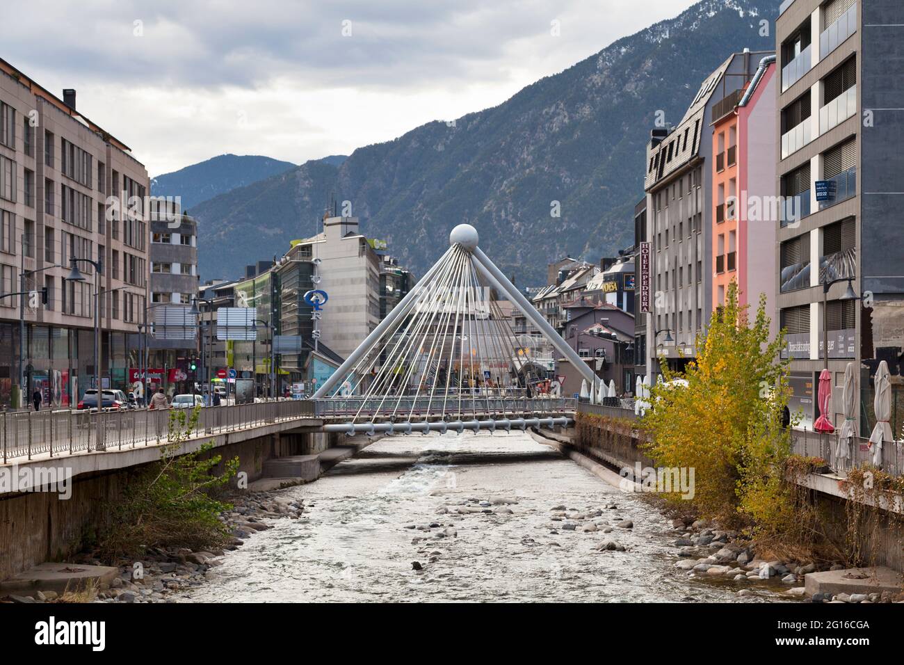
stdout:
{"type": "Polygon", "coordinates": [[[222,153],[300,164],[494,106],[692,0],[30,0],[0,57],[151,176],[222,153]]]}

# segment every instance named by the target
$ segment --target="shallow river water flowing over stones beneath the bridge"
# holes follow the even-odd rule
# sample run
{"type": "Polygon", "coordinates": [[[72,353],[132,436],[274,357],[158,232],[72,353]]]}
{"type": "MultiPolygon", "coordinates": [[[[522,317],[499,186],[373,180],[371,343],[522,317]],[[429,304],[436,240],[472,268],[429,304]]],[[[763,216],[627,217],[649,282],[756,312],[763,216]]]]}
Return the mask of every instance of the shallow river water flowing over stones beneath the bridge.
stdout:
{"type": "Polygon", "coordinates": [[[658,510],[523,432],[387,437],[320,480],[280,491],[304,499],[304,517],[268,520],[272,529],[175,600],[778,600],[765,589],[741,598],[736,583],[688,578],[673,567],[675,534],[658,510]],[[564,530],[568,520],[552,519],[558,506],[602,509],[574,520],[579,527],[624,518],[634,528],[564,530]],[[449,526],[456,535],[437,535],[449,526]],[[594,549],[608,538],[627,551],[594,549]]]}

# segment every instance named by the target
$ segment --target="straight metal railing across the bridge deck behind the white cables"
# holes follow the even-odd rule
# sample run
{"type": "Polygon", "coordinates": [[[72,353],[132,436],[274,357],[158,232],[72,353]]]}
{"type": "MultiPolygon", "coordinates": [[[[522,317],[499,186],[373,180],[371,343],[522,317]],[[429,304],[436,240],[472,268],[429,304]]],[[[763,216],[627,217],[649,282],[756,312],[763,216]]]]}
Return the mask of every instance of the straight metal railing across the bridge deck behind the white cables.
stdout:
{"type": "Polygon", "coordinates": [[[321,418],[352,418],[361,413],[370,418],[426,418],[441,415],[562,413],[572,412],[576,400],[570,397],[500,397],[457,394],[393,397],[330,397],[315,400],[314,413],[321,418]]]}

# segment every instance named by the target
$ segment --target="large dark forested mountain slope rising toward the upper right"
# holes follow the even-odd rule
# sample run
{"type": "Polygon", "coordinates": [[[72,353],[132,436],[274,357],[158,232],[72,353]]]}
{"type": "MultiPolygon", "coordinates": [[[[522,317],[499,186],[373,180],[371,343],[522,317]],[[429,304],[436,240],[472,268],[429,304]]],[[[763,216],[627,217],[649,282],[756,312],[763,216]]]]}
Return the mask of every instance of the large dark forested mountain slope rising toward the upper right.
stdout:
{"type": "Polygon", "coordinates": [[[771,31],[776,14],[774,0],[702,0],[497,107],[212,198],[193,209],[202,279],[281,255],[288,240],[314,232],[331,196],[350,201],[363,232],[418,274],[463,222],[519,286],[544,283],[547,262],[565,254],[615,255],[634,242],[656,111],[678,124],[731,52],[773,49],[759,22],[771,31]]]}

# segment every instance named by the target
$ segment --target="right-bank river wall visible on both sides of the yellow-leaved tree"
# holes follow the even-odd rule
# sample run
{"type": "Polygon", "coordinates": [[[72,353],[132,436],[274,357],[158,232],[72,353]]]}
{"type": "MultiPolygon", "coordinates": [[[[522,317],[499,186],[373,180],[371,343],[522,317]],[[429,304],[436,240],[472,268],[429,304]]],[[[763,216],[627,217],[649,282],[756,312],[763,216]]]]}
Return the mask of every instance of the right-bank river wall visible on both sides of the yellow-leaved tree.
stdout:
{"type": "MultiPolygon", "coordinates": [[[[554,440],[616,472],[624,468],[635,470],[638,463],[642,468],[655,467],[654,461],[642,450],[647,441],[645,432],[636,429],[633,419],[610,417],[607,413],[594,413],[590,417],[579,414],[575,426],[559,432],[554,440]]],[[[809,474],[799,484],[808,488],[804,489],[808,492],[807,499],[824,518],[826,533],[837,536],[835,544],[840,550],[856,550],[863,563],[885,565],[904,572],[904,527],[899,514],[862,505],[852,507],[851,499],[843,498],[845,495],[836,479],[809,474]],[[857,528],[853,530],[855,543],[852,544],[847,541],[846,534],[853,514],[859,518],[857,528]]]]}

